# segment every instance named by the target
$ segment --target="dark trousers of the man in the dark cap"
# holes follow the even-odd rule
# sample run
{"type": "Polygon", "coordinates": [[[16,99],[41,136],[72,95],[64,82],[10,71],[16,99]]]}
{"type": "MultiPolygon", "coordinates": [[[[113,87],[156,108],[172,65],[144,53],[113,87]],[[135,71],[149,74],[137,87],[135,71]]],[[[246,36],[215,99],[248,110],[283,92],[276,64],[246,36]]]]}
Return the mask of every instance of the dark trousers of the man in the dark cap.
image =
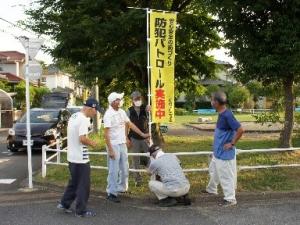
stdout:
{"type": "Polygon", "coordinates": [[[90,164],[70,163],[69,170],[71,178],[61,199],[65,208],[70,208],[76,199],[76,213],[82,214],[86,211],[86,205],[90,196],[90,164]]]}

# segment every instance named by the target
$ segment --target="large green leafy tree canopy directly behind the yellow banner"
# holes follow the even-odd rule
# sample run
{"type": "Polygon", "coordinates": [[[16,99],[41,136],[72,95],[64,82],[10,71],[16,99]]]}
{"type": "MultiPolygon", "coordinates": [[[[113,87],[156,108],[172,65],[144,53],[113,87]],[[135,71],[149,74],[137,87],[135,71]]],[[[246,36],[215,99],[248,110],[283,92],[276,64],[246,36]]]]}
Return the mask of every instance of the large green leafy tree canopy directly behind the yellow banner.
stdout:
{"type": "Polygon", "coordinates": [[[192,76],[214,74],[214,60],[206,52],[218,47],[220,38],[214,19],[198,0],[38,0],[26,11],[30,17],[27,26],[57,41],[48,51],[74,68],[75,78],[91,85],[98,77],[101,96],[112,89],[146,92],[146,13],[128,6],[179,12],[177,89],[185,91],[185,82],[196,89],[199,79],[192,76]]]}

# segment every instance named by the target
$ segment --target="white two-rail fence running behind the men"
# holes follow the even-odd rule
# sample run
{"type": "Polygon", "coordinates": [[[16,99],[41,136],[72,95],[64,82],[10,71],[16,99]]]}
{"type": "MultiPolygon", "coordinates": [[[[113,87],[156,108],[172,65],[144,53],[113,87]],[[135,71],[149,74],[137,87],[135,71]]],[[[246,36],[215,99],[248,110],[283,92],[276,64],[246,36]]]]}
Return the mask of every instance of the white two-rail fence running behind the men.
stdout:
{"type": "MultiPolygon", "coordinates": [[[[61,153],[67,153],[67,149],[61,149],[61,139],[56,143],[53,143],[49,146],[44,145],[42,149],[42,176],[46,177],[47,175],[47,165],[61,165],[68,166],[68,163],[61,162],[61,153]],[[53,148],[55,146],[55,148],[53,148]],[[47,152],[53,152],[51,156],[47,158],[47,152]],[[56,159],[56,160],[55,160],[56,159]]],[[[269,148],[269,149],[250,149],[250,150],[237,150],[237,154],[246,154],[246,153],[275,153],[275,152],[291,152],[299,151],[299,148],[269,148]]],[[[106,152],[89,152],[90,155],[99,155],[107,156],[106,152]]],[[[200,151],[200,152],[176,152],[173,153],[176,156],[211,156],[211,151],[200,151]]],[[[146,156],[149,157],[148,153],[128,153],[128,156],[146,156]]],[[[276,165],[255,165],[255,166],[238,166],[238,170],[254,170],[254,169],[270,169],[270,168],[287,168],[287,167],[300,167],[300,163],[293,164],[276,164],[276,165]]],[[[96,166],[91,165],[93,169],[107,170],[105,166],[96,166]]],[[[147,172],[145,169],[129,169],[130,172],[147,172]]],[[[184,169],[184,172],[207,172],[208,168],[191,168],[184,169]]]]}

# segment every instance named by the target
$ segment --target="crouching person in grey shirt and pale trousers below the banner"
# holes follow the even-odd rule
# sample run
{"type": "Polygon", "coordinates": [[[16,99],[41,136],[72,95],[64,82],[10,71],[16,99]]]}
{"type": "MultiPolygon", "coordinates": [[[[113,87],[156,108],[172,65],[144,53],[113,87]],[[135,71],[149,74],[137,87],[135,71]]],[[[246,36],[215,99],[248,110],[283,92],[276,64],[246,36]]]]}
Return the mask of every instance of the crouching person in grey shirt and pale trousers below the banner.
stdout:
{"type": "Polygon", "coordinates": [[[185,177],[178,158],[165,154],[159,146],[149,148],[151,163],[149,172],[155,177],[149,188],[159,199],[159,206],[190,205],[188,198],[190,183],[185,177]]]}

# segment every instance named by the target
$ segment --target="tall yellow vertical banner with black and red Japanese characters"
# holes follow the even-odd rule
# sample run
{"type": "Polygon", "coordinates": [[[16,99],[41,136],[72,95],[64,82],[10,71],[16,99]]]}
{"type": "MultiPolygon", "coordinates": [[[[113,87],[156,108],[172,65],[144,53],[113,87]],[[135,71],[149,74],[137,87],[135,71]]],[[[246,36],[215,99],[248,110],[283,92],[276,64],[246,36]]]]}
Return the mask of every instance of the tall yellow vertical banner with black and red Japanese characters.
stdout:
{"type": "Polygon", "coordinates": [[[154,123],[174,122],[176,13],[150,12],[151,102],[154,123]]]}

